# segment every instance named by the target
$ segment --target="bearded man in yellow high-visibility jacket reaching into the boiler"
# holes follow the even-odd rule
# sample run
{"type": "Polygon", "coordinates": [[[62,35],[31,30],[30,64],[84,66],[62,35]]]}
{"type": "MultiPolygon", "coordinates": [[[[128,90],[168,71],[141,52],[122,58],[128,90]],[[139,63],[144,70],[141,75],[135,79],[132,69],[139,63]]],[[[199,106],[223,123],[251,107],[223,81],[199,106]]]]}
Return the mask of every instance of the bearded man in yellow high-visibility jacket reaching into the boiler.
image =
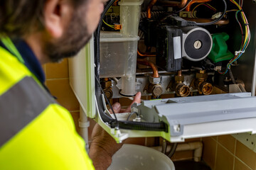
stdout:
{"type": "MultiPolygon", "coordinates": [[[[0,4],[0,169],[94,169],[92,162],[107,169],[121,145],[96,125],[91,162],[70,113],[44,86],[41,69],[75,55],[90,40],[105,0],[0,4]]],[[[121,111],[119,103],[113,108],[121,111]]]]}

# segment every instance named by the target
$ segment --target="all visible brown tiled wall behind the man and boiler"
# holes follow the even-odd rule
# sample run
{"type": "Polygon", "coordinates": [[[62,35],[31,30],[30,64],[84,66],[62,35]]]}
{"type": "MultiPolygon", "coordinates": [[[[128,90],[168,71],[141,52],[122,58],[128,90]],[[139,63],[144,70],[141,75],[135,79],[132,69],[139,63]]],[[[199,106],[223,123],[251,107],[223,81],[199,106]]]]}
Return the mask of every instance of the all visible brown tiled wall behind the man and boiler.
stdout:
{"type": "MultiPolygon", "coordinates": [[[[58,98],[58,102],[73,115],[78,129],[79,103],[69,85],[68,60],[65,59],[59,64],[46,64],[43,69],[46,72],[46,86],[48,86],[53,96],[58,98]]],[[[215,91],[215,93],[223,92],[215,91]]],[[[127,98],[119,99],[119,103],[123,107],[129,106],[130,102],[127,98]]],[[[90,120],[90,124],[89,134],[91,134],[95,122],[90,120]]],[[[186,142],[194,141],[203,142],[203,161],[213,170],[256,170],[256,154],[230,135],[186,140],[186,142]]],[[[158,142],[159,138],[157,137],[139,137],[127,140],[127,143],[148,147],[154,146],[158,142]]],[[[172,160],[192,158],[193,152],[186,151],[176,152],[172,160]]]]}

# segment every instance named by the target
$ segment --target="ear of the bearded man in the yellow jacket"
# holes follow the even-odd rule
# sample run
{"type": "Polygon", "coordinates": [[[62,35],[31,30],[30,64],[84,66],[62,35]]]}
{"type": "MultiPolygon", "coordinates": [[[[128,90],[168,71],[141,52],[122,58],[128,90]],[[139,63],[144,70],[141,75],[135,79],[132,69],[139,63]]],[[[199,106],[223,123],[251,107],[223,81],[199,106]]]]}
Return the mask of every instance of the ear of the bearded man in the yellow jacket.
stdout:
{"type": "Polygon", "coordinates": [[[63,0],[47,0],[44,6],[45,27],[53,38],[60,38],[70,22],[73,7],[63,0]]]}

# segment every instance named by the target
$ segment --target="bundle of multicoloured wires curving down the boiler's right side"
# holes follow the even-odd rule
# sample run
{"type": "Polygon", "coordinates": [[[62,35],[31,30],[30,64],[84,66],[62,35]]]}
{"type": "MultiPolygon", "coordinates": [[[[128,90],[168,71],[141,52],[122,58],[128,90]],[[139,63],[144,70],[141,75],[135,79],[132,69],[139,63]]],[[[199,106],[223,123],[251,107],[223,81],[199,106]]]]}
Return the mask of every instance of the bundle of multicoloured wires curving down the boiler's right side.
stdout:
{"type": "MultiPolygon", "coordinates": [[[[227,67],[225,69],[224,72],[221,72],[220,70],[218,70],[218,73],[220,74],[226,74],[228,72],[228,69],[230,69],[230,66],[233,64],[233,62],[235,62],[236,60],[238,60],[242,54],[245,52],[245,50],[247,49],[249,43],[250,43],[250,28],[249,28],[249,23],[247,21],[247,18],[245,16],[245,13],[244,11],[242,10],[242,7],[234,0],[230,0],[233,4],[235,4],[235,6],[238,7],[238,11],[235,13],[235,19],[236,21],[238,22],[239,26],[240,26],[240,30],[241,30],[241,33],[242,35],[245,34],[244,38],[242,38],[242,45],[240,46],[240,50],[238,51],[235,51],[235,56],[233,57],[233,59],[231,59],[228,64],[227,64],[227,67]],[[240,21],[238,20],[238,13],[240,13],[240,16],[242,18],[242,22],[245,26],[245,31],[243,31],[242,29],[242,25],[240,23],[240,21]]],[[[242,1],[241,3],[242,4],[242,1]]]]}

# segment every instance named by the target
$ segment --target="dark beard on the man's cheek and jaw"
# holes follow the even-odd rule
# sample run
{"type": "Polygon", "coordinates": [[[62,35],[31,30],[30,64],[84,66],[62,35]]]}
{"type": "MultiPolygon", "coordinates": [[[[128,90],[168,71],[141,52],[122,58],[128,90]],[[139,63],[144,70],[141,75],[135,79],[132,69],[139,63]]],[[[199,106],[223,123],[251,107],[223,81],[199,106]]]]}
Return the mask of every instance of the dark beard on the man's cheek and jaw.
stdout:
{"type": "Polygon", "coordinates": [[[44,53],[51,62],[60,62],[63,58],[77,55],[91,37],[87,30],[85,15],[75,12],[63,36],[53,42],[46,42],[44,53]]]}

